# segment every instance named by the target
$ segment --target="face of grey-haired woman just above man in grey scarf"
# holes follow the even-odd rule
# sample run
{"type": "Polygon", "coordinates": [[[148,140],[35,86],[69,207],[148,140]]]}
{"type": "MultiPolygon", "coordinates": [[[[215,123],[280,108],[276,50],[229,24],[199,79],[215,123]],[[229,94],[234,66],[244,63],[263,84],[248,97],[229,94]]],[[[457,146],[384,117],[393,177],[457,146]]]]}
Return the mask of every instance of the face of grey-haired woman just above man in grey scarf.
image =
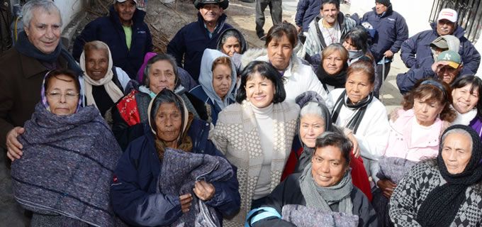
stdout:
{"type": "Polygon", "coordinates": [[[308,148],[315,148],[318,135],[325,132],[325,119],[316,114],[306,114],[300,118],[300,137],[301,141],[308,148]]]}

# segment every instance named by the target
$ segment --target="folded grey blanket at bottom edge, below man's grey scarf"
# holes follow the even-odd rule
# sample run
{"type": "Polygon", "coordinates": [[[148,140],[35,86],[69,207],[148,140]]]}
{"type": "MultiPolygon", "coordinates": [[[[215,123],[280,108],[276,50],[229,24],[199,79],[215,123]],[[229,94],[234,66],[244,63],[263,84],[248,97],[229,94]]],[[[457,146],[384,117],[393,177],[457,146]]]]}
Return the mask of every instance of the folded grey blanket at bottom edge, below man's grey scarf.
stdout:
{"type": "Polygon", "coordinates": [[[303,205],[287,204],[281,211],[283,220],[298,227],[358,226],[358,216],[334,211],[320,211],[303,205]]]}

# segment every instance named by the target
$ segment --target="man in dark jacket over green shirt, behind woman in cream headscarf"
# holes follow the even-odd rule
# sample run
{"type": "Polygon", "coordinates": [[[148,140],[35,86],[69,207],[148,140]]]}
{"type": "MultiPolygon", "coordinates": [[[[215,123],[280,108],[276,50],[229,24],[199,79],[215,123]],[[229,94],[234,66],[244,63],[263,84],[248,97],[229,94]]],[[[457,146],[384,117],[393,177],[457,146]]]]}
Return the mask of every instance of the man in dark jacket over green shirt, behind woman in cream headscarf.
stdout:
{"type": "Polygon", "coordinates": [[[145,11],[136,9],[137,0],[117,0],[109,16],[97,18],[85,26],[77,36],[72,54],[79,60],[84,44],[99,40],[106,43],[112,52],[115,66],[120,67],[136,79],[144,55],[152,51],[152,37],[144,22],[145,11]]]}

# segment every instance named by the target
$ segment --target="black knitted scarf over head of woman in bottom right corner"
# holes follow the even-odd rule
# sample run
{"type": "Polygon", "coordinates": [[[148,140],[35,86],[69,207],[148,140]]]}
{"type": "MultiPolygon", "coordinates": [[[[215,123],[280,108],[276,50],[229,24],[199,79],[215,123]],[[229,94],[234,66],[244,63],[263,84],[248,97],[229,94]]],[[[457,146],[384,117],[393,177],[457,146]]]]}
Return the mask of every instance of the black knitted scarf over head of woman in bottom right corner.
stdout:
{"type": "Polygon", "coordinates": [[[443,142],[440,142],[437,165],[440,175],[447,183],[433,189],[418,209],[417,222],[424,227],[450,226],[461,204],[465,201],[467,187],[476,184],[482,177],[482,144],[478,134],[469,126],[454,125],[447,128],[442,137],[454,128],[460,128],[471,135],[472,155],[464,172],[452,175],[448,172],[442,158],[443,142]]]}

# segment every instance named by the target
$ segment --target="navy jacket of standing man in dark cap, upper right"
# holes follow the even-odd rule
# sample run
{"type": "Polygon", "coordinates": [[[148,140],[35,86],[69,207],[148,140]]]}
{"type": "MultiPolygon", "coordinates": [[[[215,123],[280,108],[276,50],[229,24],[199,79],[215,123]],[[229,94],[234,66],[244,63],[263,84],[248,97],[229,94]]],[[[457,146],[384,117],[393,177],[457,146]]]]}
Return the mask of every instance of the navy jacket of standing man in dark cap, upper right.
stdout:
{"type": "Polygon", "coordinates": [[[386,12],[381,15],[376,14],[376,9],[365,13],[361,18],[361,23],[368,22],[376,30],[373,44],[370,46],[371,53],[375,61],[379,62],[383,58],[383,53],[387,50],[396,53],[400,50],[402,43],[408,39],[408,26],[405,18],[393,11],[392,5],[388,6],[386,12]]]}

